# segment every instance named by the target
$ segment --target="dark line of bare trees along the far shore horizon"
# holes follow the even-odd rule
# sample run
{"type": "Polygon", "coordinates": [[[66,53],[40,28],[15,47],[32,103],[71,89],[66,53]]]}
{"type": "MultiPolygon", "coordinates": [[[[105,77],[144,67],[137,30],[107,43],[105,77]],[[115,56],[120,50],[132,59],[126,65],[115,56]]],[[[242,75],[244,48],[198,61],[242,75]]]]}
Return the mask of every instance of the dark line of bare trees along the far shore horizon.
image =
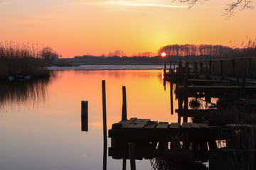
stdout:
{"type": "Polygon", "coordinates": [[[108,55],[83,55],[75,56],[75,59],[104,59],[104,60],[151,60],[163,58],[179,58],[186,59],[187,57],[200,57],[204,59],[212,58],[230,58],[230,57],[256,57],[256,41],[248,40],[247,43],[242,43],[243,47],[228,47],[224,45],[166,45],[160,47],[158,52],[139,52],[128,57],[125,52],[116,50],[108,55]],[[166,53],[166,57],[161,57],[162,53],[166,53]]]}

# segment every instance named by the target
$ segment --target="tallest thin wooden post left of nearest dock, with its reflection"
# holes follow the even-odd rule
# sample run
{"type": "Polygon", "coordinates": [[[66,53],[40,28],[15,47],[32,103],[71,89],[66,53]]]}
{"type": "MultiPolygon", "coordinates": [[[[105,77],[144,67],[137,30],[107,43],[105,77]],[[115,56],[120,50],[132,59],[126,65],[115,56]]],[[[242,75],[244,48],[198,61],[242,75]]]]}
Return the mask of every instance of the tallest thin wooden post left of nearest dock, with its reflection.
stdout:
{"type": "Polygon", "coordinates": [[[103,169],[107,169],[107,115],[106,115],[106,87],[105,80],[102,80],[102,112],[103,112],[103,169]]]}

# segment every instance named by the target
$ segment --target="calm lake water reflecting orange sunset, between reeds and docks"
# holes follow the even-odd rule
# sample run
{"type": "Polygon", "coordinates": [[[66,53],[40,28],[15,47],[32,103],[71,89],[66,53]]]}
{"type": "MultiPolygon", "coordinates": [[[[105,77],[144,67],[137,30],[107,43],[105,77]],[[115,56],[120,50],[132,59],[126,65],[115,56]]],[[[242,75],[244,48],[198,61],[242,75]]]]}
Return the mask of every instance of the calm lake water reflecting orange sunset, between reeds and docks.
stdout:
{"type": "MultiPolygon", "coordinates": [[[[166,82],[164,89],[161,70],[52,72],[50,79],[32,85],[22,81],[0,85],[1,169],[102,169],[102,80],[107,129],[121,119],[122,86],[127,88],[128,118],[178,120],[176,113],[171,115],[170,85],[166,82]],[[89,103],[89,132],[81,132],[81,101],[89,103]]],[[[149,160],[136,164],[137,169],[151,169],[149,160]]],[[[122,160],[107,157],[107,169],[122,169],[122,160]]]]}

